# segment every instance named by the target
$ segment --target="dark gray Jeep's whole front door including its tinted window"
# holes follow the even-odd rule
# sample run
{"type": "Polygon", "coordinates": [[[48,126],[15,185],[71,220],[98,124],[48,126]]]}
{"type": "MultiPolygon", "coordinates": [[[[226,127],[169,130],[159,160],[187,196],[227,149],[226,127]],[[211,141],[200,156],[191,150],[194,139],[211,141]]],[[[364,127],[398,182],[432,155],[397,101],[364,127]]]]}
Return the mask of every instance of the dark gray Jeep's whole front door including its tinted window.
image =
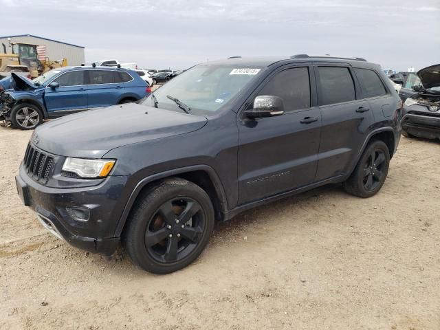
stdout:
{"type": "Polygon", "coordinates": [[[239,122],[239,203],[314,182],[321,118],[320,110],[311,107],[310,69],[278,69],[256,93],[281,98],[283,115],[239,122]]]}

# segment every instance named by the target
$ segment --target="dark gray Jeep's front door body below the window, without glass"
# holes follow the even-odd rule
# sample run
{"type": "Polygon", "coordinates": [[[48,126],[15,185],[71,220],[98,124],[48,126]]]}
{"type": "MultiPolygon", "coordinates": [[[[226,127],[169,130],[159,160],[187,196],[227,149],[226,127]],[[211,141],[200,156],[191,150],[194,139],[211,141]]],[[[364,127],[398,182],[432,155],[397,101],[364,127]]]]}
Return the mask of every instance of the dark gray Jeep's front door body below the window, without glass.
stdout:
{"type": "Polygon", "coordinates": [[[306,186],[318,164],[319,109],[294,111],[239,126],[239,203],[306,186]]]}

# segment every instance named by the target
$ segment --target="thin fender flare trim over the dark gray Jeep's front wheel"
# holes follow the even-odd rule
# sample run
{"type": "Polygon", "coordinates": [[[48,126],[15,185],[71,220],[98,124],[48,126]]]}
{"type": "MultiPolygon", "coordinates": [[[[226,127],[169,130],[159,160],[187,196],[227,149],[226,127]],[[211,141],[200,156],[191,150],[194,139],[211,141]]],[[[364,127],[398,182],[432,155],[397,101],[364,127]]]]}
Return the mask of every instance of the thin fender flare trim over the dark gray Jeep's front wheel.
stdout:
{"type": "Polygon", "coordinates": [[[118,226],[116,227],[115,230],[115,237],[120,237],[120,235],[122,234],[122,230],[124,229],[126,220],[129,217],[131,208],[133,207],[133,204],[137,199],[137,196],[140,194],[142,188],[144,188],[147,184],[150,184],[153,181],[157,181],[159,179],[165,179],[166,177],[173,177],[174,175],[179,175],[183,173],[194,172],[196,170],[203,170],[204,172],[208,173],[208,176],[212,181],[214,189],[217,192],[217,196],[219,197],[221,212],[223,213],[227,212],[228,203],[225,195],[225,190],[214,168],[208,165],[193,165],[193,166],[185,166],[181,168],[174,168],[173,170],[166,170],[165,172],[149,175],[148,177],[144,177],[143,179],[137,182],[135,188],[131,192],[129,199],[125,203],[124,210],[122,211],[122,214],[118,221],[118,226]]]}

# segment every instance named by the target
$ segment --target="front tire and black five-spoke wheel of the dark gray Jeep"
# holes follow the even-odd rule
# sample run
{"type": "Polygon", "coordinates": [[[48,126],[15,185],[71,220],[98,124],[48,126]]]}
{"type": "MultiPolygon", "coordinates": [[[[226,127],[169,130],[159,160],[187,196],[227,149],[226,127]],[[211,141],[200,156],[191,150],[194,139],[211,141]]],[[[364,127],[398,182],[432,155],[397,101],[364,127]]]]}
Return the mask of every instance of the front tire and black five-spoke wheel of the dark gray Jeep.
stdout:
{"type": "Polygon", "coordinates": [[[131,260],[144,270],[168,274],[197,259],[213,228],[208,194],[190,181],[170,178],[137,199],[123,243],[131,260]]]}

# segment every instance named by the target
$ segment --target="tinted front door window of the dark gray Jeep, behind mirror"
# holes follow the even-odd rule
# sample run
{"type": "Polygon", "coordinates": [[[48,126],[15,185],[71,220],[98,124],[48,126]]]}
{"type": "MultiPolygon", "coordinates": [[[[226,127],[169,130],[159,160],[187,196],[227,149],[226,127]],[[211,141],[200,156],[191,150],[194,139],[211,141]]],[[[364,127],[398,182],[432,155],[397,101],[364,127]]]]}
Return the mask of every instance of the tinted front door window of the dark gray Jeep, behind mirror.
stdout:
{"type": "Polygon", "coordinates": [[[283,99],[285,111],[310,107],[310,78],[307,67],[295,67],[278,72],[259,92],[283,99]]]}

